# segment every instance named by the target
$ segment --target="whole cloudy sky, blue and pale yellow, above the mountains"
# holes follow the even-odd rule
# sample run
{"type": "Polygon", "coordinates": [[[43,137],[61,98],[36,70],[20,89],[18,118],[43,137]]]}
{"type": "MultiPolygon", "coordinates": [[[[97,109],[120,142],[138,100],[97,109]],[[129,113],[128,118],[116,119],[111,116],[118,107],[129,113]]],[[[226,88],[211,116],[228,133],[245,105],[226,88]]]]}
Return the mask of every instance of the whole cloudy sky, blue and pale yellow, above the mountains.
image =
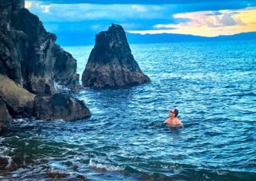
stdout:
{"type": "Polygon", "coordinates": [[[29,0],[25,6],[56,34],[97,34],[111,23],[140,34],[212,37],[256,31],[255,0],[29,0]]]}

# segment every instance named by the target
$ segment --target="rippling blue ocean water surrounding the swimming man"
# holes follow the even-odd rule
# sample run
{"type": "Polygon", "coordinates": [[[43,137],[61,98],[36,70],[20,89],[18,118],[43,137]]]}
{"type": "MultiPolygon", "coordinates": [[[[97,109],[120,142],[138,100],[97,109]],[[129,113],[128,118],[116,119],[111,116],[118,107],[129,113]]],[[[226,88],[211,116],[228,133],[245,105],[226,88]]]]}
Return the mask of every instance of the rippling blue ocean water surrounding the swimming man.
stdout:
{"type": "MultiPolygon", "coordinates": [[[[15,119],[0,180],[256,180],[256,41],[130,47],[152,82],[70,92],[89,119],[15,119]],[[155,126],[171,108],[184,129],[155,126]]],[[[64,47],[80,75],[92,48],[64,47]]]]}

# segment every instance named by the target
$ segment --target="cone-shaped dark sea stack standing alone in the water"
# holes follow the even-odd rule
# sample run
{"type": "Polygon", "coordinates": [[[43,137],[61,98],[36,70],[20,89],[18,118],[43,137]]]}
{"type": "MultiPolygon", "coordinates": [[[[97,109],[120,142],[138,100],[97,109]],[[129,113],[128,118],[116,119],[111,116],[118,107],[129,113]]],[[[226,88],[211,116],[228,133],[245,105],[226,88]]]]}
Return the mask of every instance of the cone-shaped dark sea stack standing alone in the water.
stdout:
{"type": "Polygon", "coordinates": [[[150,82],[131,54],[125,31],[112,24],[96,35],[82,82],[84,87],[119,87],[150,82]]]}

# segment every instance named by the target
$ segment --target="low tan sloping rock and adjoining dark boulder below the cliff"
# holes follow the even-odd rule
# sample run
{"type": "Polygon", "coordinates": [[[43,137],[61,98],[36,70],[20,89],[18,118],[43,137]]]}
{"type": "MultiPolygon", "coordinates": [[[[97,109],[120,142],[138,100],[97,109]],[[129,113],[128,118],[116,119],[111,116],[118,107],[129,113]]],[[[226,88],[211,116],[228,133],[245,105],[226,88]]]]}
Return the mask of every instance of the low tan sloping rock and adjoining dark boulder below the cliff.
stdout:
{"type": "Polygon", "coordinates": [[[12,115],[32,115],[38,119],[76,120],[91,115],[83,101],[71,96],[62,93],[35,95],[23,89],[18,83],[13,82],[5,75],[0,74],[0,80],[0,103],[3,99],[3,103],[0,105],[0,113],[7,111],[2,121],[6,122],[5,127],[8,127],[8,122],[11,121],[8,117],[8,110],[12,115]],[[8,106],[8,110],[6,110],[5,105],[8,106]]]}

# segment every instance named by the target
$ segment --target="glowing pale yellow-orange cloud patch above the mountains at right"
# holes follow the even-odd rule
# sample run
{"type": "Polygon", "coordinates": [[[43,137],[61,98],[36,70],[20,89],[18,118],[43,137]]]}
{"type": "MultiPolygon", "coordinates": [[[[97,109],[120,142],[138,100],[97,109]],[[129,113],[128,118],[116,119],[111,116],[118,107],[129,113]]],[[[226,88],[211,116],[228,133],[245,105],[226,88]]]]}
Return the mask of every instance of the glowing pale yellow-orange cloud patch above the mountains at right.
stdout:
{"type": "Polygon", "coordinates": [[[178,13],[173,15],[173,17],[186,18],[188,22],[180,24],[157,24],[154,26],[156,28],[155,30],[129,31],[129,33],[175,33],[212,37],[256,31],[256,8],[254,7],[244,10],[178,13]]]}

